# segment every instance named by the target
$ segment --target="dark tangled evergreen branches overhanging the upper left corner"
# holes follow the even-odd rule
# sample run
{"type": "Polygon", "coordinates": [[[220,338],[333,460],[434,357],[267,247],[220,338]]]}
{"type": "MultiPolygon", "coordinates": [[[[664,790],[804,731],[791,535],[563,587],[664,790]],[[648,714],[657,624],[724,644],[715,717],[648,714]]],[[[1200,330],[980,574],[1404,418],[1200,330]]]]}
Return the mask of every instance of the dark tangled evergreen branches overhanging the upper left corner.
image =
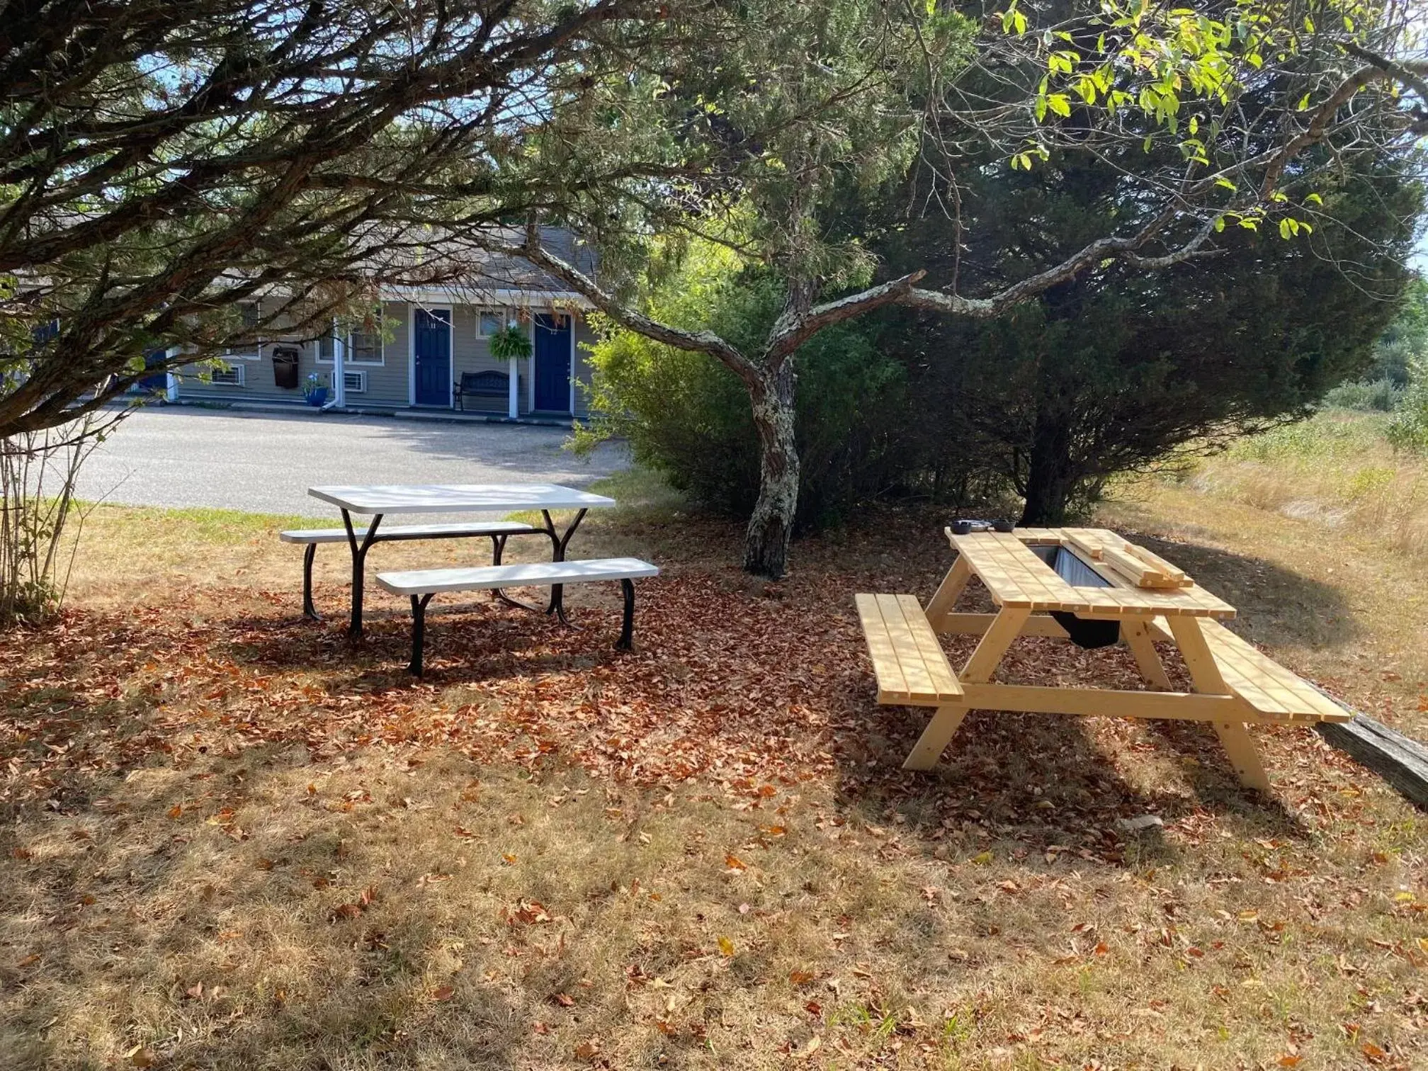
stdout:
{"type": "MultiPolygon", "coordinates": [[[[0,436],[124,391],[144,354],[440,281],[438,204],[541,204],[504,160],[623,67],[641,0],[9,0],[0,7],[0,436]],[[241,323],[256,296],[264,320],[241,323]],[[47,327],[51,326],[53,327],[47,327]],[[43,330],[41,330],[43,328],[43,330]]],[[[598,183],[585,171],[583,183],[598,183]]],[[[183,347],[186,354],[178,354],[183,347]]],[[[153,363],[150,363],[153,364],[153,363]]]]}

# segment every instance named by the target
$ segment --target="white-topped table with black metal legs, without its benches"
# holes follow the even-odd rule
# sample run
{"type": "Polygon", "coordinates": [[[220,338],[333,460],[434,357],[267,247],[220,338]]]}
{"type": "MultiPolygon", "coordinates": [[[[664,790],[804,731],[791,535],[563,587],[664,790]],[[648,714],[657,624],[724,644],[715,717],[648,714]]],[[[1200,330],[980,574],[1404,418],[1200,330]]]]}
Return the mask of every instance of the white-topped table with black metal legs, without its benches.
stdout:
{"type": "MultiPolygon", "coordinates": [[[[565,560],[565,547],[575,534],[587,510],[614,506],[614,498],[580,491],[561,484],[371,484],[308,487],[307,493],[331,503],[343,513],[347,545],[353,555],[353,605],[347,634],[361,635],[361,600],[367,550],[377,537],[377,527],[388,513],[514,513],[540,510],[545,520],[543,531],[550,537],[551,561],[565,560]],[[555,530],[551,510],[575,510],[575,517],[564,533],[555,530]],[[367,531],[358,541],[351,514],[370,516],[367,531]]],[[[561,587],[551,587],[547,613],[565,620],[561,587]]]]}

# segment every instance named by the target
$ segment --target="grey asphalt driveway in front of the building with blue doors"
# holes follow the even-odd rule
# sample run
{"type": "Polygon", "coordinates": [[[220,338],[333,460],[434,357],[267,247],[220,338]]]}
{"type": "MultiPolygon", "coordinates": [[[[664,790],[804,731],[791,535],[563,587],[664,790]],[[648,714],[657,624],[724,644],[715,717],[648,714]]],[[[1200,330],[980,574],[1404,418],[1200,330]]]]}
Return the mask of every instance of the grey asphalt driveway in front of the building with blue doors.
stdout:
{"type": "MultiPolygon", "coordinates": [[[[563,448],[567,428],[294,413],[146,408],[86,463],[80,496],[129,506],[206,506],[327,517],[313,484],[541,481],[584,487],[627,466],[604,444],[563,448]]],[[[327,517],[331,520],[331,517],[327,517]]]]}

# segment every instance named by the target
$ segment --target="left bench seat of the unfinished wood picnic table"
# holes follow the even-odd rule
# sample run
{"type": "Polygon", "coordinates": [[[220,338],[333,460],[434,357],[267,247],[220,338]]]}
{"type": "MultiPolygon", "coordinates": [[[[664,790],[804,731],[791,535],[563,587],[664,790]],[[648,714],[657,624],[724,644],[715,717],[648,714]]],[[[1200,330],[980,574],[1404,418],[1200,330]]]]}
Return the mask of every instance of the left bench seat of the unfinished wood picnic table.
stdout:
{"type": "Polygon", "coordinates": [[[941,707],[962,695],[917,595],[854,595],[878,678],[878,703],[941,707]]]}

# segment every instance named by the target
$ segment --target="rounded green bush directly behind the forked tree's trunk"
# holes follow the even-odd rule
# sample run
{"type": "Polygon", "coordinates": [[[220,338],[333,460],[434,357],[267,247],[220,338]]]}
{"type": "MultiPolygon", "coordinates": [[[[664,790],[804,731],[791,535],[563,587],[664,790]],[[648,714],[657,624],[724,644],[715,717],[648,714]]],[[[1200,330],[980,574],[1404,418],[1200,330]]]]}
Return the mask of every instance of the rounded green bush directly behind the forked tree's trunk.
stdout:
{"type": "MultiPolygon", "coordinates": [[[[783,300],[775,278],[710,247],[690,251],[651,293],[647,314],[750,350],[783,300]]],[[[637,461],[700,504],[747,517],[758,496],[758,441],[744,384],[707,354],[595,323],[590,390],[600,416],[577,441],[625,437],[637,461]]],[[[878,351],[871,326],[825,328],[798,351],[798,527],[834,520],[900,478],[897,426],[907,408],[904,370],[878,351]]]]}

